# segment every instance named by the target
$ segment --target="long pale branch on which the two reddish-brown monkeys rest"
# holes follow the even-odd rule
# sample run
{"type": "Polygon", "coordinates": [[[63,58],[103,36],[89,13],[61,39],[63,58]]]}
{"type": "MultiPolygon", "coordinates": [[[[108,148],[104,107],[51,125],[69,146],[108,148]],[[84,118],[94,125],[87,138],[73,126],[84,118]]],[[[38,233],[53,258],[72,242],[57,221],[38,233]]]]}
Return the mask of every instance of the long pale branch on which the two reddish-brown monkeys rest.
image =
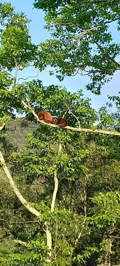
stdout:
{"type": "MultiPolygon", "coordinates": [[[[31,113],[33,113],[33,116],[36,118],[36,120],[41,123],[44,124],[46,126],[51,126],[51,127],[56,127],[58,128],[59,126],[56,126],[55,124],[47,124],[42,120],[39,120],[38,116],[36,115],[35,111],[33,108],[31,108],[31,106],[29,104],[26,104],[23,100],[21,101],[21,103],[23,103],[23,105],[28,108],[31,113]]],[[[111,135],[111,136],[118,136],[120,137],[120,132],[116,132],[116,131],[108,131],[108,130],[102,130],[102,129],[87,129],[87,128],[76,128],[76,127],[72,127],[72,126],[66,126],[64,127],[64,129],[69,129],[72,131],[76,131],[76,132],[85,132],[85,133],[94,133],[94,134],[106,134],[106,135],[111,135]]]]}

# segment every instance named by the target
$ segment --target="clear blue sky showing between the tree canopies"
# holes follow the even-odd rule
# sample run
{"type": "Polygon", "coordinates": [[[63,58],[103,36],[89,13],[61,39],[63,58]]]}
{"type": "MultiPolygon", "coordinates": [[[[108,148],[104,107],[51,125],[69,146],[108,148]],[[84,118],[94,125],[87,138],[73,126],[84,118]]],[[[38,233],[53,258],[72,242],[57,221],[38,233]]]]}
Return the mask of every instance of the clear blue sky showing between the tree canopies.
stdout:
{"type": "MultiPolygon", "coordinates": [[[[2,0],[2,2],[5,2],[2,0]]],[[[32,20],[30,23],[30,35],[33,43],[39,44],[42,41],[50,38],[50,34],[47,30],[43,29],[45,25],[44,22],[44,12],[41,10],[33,9],[34,0],[11,0],[6,1],[12,4],[15,7],[15,11],[17,12],[25,12],[27,17],[32,20]]],[[[113,41],[118,42],[120,40],[120,33],[116,30],[116,23],[113,22],[110,28],[113,36],[113,41]]],[[[120,61],[120,58],[117,58],[120,61]]],[[[106,101],[108,101],[107,95],[116,95],[118,91],[120,91],[120,74],[116,72],[111,82],[104,85],[102,88],[102,94],[99,96],[95,96],[93,93],[87,91],[85,89],[85,85],[89,82],[87,76],[76,75],[75,77],[66,77],[63,82],[59,82],[55,76],[49,76],[49,67],[45,69],[44,72],[39,72],[38,77],[42,80],[44,86],[47,85],[60,85],[65,86],[68,91],[76,92],[78,89],[82,89],[84,96],[92,99],[92,107],[97,109],[100,108],[106,101]]],[[[24,69],[22,74],[21,71],[19,73],[19,77],[28,77],[28,76],[36,76],[37,70],[33,67],[29,67],[28,69],[24,69]]],[[[113,108],[113,111],[115,109],[113,108]]]]}

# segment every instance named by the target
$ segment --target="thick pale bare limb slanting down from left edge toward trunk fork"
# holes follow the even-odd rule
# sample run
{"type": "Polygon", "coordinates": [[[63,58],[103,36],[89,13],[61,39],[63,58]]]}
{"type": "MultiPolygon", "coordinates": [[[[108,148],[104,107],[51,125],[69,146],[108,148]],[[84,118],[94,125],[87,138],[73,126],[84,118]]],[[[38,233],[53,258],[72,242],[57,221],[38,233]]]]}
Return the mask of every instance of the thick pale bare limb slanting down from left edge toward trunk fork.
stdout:
{"type": "Polygon", "coordinates": [[[30,207],[30,202],[27,202],[23,196],[21,195],[19,189],[17,189],[17,186],[15,185],[13,179],[12,179],[12,176],[5,164],[5,161],[4,161],[4,158],[3,158],[3,155],[0,151],[0,163],[1,163],[1,166],[2,166],[2,169],[4,171],[4,173],[6,174],[8,180],[9,180],[9,184],[12,188],[12,190],[15,192],[17,198],[20,200],[20,202],[22,203],[22,205],[30,212],[32,213],[33,215],[36,215],[36,216],[40,216],[41,213],[39,213],[37,210],[35,210],[33,207],[30,207]]]}

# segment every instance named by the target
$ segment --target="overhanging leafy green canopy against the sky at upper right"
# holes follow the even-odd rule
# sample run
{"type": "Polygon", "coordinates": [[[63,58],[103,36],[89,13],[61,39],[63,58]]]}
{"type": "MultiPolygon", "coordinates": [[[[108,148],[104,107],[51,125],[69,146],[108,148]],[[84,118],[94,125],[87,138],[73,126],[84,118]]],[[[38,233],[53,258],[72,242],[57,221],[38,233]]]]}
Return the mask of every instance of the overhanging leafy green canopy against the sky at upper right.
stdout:
{"type": "Polygon", "coordinates": [[[116,60],[120,46],[108,31],[114,21],[120,30],[119,0],[35,0],[34,6],[45,11],[45,28],[52,36],[39,45],[44,66],[55,67],[59,80],[78,73],[88,75],[87,90],[100,94],[101,87],[120,70],[116,60]]]}

